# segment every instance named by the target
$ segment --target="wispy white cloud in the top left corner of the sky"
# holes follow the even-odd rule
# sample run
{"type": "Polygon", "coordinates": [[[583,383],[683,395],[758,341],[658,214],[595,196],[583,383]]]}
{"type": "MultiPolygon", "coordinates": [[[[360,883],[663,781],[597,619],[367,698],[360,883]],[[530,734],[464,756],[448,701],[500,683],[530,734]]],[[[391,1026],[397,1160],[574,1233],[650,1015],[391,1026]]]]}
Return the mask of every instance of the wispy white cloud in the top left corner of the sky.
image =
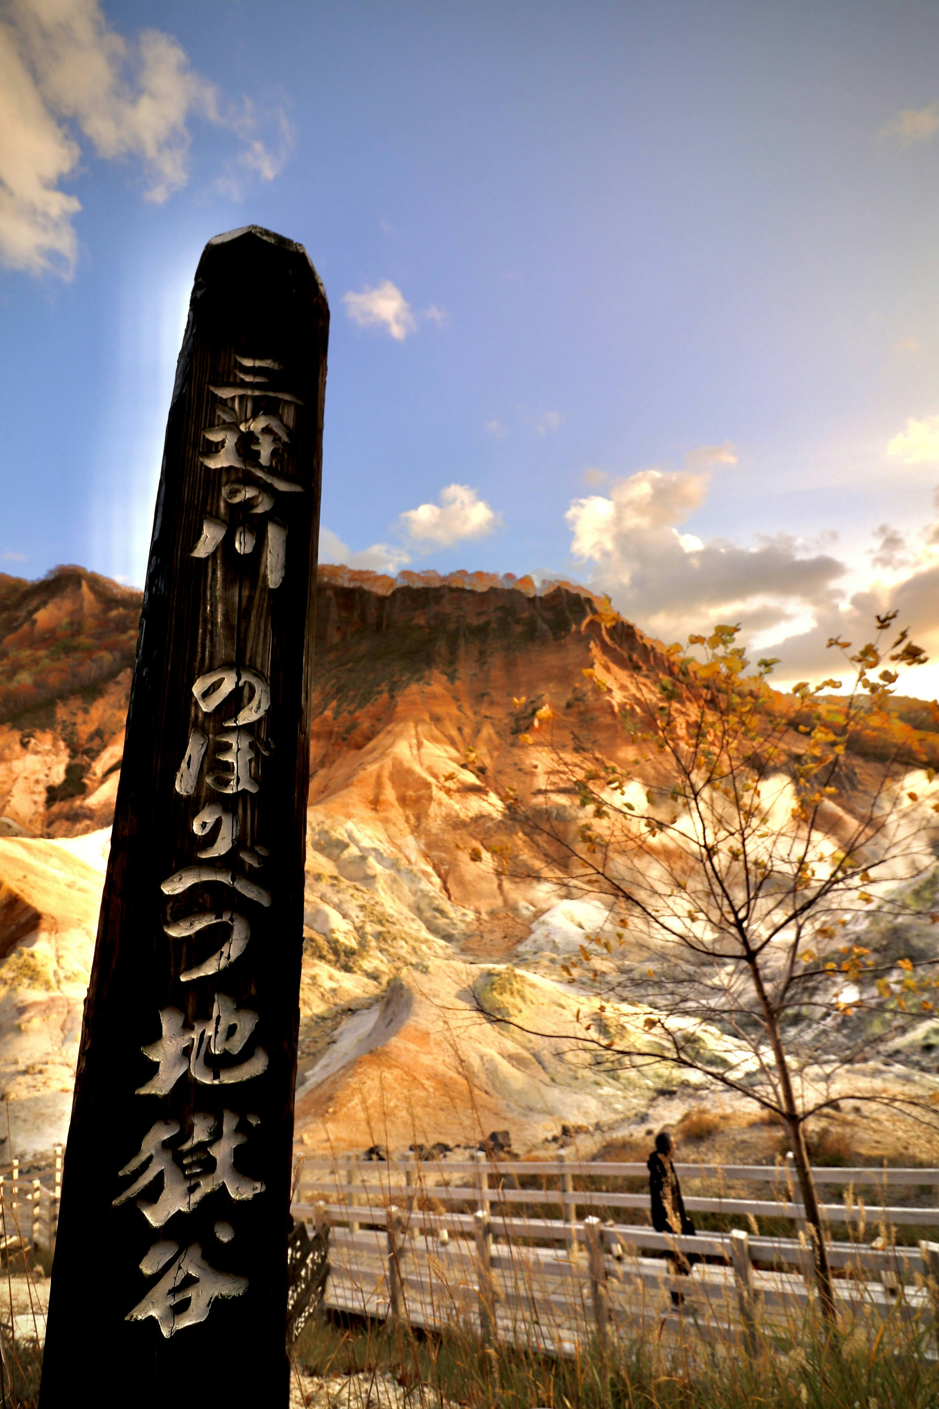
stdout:
{"type": "Polygon", "coordinates": [[[132,158],[145,196],[163,201],[189,179],[193,114],[235,131],[244,161],[262,179],[277,158],[258,135],[253,107],[224,104],[159,30],[128,42],[111,30],[100,0],[6,0],[0,20],[0,259],[15,269],[76,261],[72,225],[79,200],[59,189],[84,137],[104,159],[132,158]]]}

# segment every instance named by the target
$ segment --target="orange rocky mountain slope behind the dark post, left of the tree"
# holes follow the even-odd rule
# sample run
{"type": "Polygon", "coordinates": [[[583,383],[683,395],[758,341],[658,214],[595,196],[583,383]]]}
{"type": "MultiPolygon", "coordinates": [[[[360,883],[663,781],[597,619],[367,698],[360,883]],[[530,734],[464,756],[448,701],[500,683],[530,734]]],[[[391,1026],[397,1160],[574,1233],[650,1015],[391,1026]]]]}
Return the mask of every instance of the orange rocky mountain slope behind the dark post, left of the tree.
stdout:
{"type": "MultiPolygon", "coordinates": [[[[80,568],[0,578],[0,1091],[24,1155],[68,1124],[139,603],[80,568]]],[[[584,671],[628,702],[670,669],[659,643],[583,588],[321,568],[304,1147],[403,1151],[508,1129],[532,1148],[565,1126],[674,1119],[695,1099],[693,1072],[610,1072],[522,1030],[574,1030],[583,993],[560,965],[607,910],[498,865],[505,789],[546,790],[525,744],[539,723],[562,751],[583,728],[628,759],[584,671]],[[510,1022],[483,1017],[480,1000],[510,1022]]],[[[577,816],[574,799],[550,802],[577,816]]],[[[731,1043],[717,1029],[705,1040],[731,1043]]]]}

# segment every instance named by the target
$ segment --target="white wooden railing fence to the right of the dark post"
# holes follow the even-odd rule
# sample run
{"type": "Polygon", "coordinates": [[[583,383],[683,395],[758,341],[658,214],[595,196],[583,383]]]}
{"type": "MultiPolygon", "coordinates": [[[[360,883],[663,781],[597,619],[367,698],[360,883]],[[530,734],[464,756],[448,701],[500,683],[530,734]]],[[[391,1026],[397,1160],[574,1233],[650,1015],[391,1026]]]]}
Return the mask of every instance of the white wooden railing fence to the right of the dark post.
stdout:
{"type": "MultiPolygon", "coordinates": [[[[329,1229],[325,1305],[417,1326],[470,1323],[562,1354],[617,1327],[683,1333],[753,1347],[757,1334],[793,1333],[815,1305],[805,1210],[791,1167],[677,1164],[688,1213],[743,1216],[750,1227],[673,1237],[619,1222],[648,1210],[649,1195],[576,1188],[574,1181],[648,1179],[642,1164],[577,1161],[305,1160],[294,1216],[329,1229]],[[534,1185],[519,1188],[519,1181],[534,1185]],[[553,1186],[548,1186],[549,1181],[553,1186]],[[760,1198],[722,1191],[762,1184],[760,1198]],[[604,1215],[601,1222],[597,1213],[604,1215]],[[759,1219],[788,1220],[790,1236],[760,1233],[759,1219]],[[690,1275],[676,1254],[697,1254],[690,1275]]],[[[888,1315],[939,1327],[939,1243],[898,1241],[902,1226],[939,1226],[939,1169],[817,1168],[843,1188],[822,1205],[835,1292],[845,1316],[888,1315]],[[891,1203],[894,1188],[928,1189],[929,1205],[891,1203]],[[859,1191],[864,1191],[863,1193],[859,1191]],[[840,1224],[846,1236],[831,1236],[840,1224]],[[866,1241],[876,1233],[873,1243],[866,1241]]]]}

